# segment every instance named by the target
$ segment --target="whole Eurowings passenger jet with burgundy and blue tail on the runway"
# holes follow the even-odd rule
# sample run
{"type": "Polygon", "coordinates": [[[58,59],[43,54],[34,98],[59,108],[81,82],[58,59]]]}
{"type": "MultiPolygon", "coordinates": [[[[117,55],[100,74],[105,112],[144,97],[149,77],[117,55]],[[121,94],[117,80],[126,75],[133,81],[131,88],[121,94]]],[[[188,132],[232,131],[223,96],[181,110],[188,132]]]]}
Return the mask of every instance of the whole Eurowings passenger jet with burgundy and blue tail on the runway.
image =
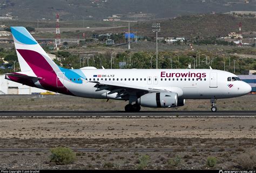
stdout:
{"type": "Polygon", "coordinates": [[[210,69],[66,69],[55,64],[22,26],[11,27],[21,72],[5,79],[66,95],[129,101],[126,112],[141,106],[172,108],[185,99],[216,100],[251,92],[251,86],[230,72],[210,69]]]}

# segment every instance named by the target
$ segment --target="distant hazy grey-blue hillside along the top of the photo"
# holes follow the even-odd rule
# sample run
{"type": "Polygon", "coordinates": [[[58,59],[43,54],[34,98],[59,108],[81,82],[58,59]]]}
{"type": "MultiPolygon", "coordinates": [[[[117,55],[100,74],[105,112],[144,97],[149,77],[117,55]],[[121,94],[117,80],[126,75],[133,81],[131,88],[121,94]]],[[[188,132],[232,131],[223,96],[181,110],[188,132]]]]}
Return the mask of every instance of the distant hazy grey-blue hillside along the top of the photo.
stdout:
{"type": "Polygon", "coordinates": [[[11,13],[21,20],[55,19],[58,12],[63,20],[81,20],[89,16],[93,19],[102,19],[113,14],[120,14],[123,18],[139,19],[131,14],[142,12],[152,14],[148,18],[166,18],[211,11],[255,11],[255,0],[250,0],[248,4],[228,2],[230,1],[206,0],[202,3],[202,0],[0,0],[0,16],[11,13]]]}

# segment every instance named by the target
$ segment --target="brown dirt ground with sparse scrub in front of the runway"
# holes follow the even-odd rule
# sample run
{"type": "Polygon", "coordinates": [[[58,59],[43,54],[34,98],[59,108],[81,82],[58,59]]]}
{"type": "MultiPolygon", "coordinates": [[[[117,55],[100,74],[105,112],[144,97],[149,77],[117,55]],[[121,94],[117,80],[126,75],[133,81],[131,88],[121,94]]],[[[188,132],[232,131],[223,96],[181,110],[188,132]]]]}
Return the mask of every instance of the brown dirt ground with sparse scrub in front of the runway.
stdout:
{"type": "Polygon", "coordinates": [[[50,151],[0,152],[0,169],[138,169],[139,158],[144,155],[150,156],[144,169],[252,169],[256,165],[255,120],[255,117],[1,117],[0,148],[65,146],[99,150],[76,152],[77,160],[68,165],[49,162],[50,151]],[[113,148],[123,150],[112,151],[113,148]],[[129,148],[155,150],[134,152],[129,148]],[[212,168],[206,164],[208,156],[217,158],[212,168]],[[178,164],[170,164],[169,160],[177,157],[178,164]]]}

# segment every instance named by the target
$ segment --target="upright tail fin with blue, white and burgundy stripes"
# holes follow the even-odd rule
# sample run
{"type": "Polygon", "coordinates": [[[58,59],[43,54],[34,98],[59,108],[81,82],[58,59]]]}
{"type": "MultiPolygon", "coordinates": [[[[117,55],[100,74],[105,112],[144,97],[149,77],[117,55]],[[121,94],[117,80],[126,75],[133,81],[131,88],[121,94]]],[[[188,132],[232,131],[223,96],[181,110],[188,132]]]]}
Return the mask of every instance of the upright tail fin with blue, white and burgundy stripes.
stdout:
{"type": "Polygon", "coordinates": [[[11,27],[11,32],[22,72],[30,71],[38,77],[39,72],[58,71],[58,66],[25,27],[11,27]]]}

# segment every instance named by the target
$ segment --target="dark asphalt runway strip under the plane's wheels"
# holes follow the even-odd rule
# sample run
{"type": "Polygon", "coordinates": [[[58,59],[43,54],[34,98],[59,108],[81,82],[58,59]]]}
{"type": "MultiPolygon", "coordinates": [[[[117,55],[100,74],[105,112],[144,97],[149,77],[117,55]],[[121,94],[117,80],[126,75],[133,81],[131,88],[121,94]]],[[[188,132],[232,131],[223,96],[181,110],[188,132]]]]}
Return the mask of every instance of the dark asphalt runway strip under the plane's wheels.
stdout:
{"type": "Polygon", "coordinates": [[[34,112],[34,111],[1,111],[0,117],[68,117],[68,116],[79,116],[79,117],[168,117],[168,116],[256,116],[255,111],[151,111],[151,112],[136,112],[127,113],[122,111],[44,111],[44,112],[34,112]]]}

